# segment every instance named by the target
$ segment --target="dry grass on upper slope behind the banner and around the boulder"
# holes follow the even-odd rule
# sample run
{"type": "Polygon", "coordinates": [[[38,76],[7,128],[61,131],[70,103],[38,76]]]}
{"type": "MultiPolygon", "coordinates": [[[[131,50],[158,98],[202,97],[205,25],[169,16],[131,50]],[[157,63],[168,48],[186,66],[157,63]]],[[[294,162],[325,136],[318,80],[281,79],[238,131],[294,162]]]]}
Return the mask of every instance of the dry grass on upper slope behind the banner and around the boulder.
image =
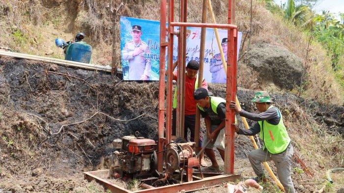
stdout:
{"type": "MultiPolygon", "coordinates": [[[[114,0],[115,7],[122,0],[114,0]]],[[[125,6],[119,15],[137,17],[148,20],[159,20],[160,2],[156,0],[124,0],[125,6]],[[153,11],[154,10],[154,11],[153,11]]],[[[93,47],[93,63],[108,65],[112,55],[112,21],[109,15],[108,0],[76,0],[71,2],[55,2],[39,0],[8,0],[0,3],[0,45],[29,54],[62,58],[62,51],[54,45],[56,37],[72,39],[76,32],[86,32],[86,41],[93,47]],[[29,1],[28,1],[29,2],[29,1]],[[34,4],[34,6],[29,6],[34,4]],[[34,8],[33,8],[34,7],[34,8]],[[38,7],[38,8],[37,8],[38,7]],[[49,8],[46,8],[49,7],[49,8]],[[22,11],[13,11],[22,10],[22,11]],[[30,22],[28,22],[30,21],[30,22]],[[20,32],[19,34],[16,32],[20,32]],[[19,37],[15,37],[16,34],[19,37]],[[10,40],[10,41],[8,41],[10,40]],[[48,55],[46,55],[48,54],[48,55]]],[[[227,23],[227,1],[212,0],[217,23],[227,23]]],[[[188,1],[188,21],[201,22],[200,0],[188,1]]],[[[179,1],[175,1],[175,21],[179,20],[179,1]]],[[[236,1],[235,24],[240,31],[250,30],[250,1],[236,1]]],[[[273,15],[264,8],[261,0],[252,5],[251,43],[267,42],[287,48],[304,62],[308,36],[299,28],[287,24],[282,18],[273,15]]],[[[208,23],[211,23],[208,14],[208,23]]],[[[116,28],[115,30],[119,30],[116,28]]],[[[248,40],[243,48],[244,53],[248,40]]],[[[116,48],[120,47],[119,37],[116,48]]],[[[116,50],[119,55],[119,49],[116,50]]],[[[344,88],[335,80],[330,58],[317,43],[311,44],[308,64],[310,65],[302,95],[306,99],[316,99],[332,104],[343,104],[344,88]]],[[[252,80],[257,78],[256,72],[243,64],[238,69],[238,83],[245,88],[257,88],[252,80]]],[[[259,80],[258,80],[259,82],[259,80]]],[[[260,85],[259,89],[269,89],[270,85],[260,85]]],[[[296,92],[296,91],[295,91],[296,92]]]]}

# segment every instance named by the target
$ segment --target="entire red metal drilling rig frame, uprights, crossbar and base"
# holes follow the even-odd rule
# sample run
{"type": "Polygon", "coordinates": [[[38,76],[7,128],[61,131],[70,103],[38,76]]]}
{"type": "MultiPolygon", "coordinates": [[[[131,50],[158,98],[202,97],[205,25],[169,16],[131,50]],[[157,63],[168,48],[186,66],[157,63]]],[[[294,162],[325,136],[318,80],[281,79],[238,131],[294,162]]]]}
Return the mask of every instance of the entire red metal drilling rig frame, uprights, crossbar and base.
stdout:
{"type": "MultiPolygon", "coordinates": [[[[226,28],[228,29],[228,58],[227,58],[227,83],[226,83],[226,143],[225,143],[225,174],[226,175],[216,175],[211,177],[206,177],[203,179],[197,179],[191,182],[184,182],[175,185],[151,188],[147,185],[145,187],[149,188],[142,191],[131,192],[118,187],[111,182],[104,180],[104,178],[111,177],[111,170],[99,170],[84,172],[85,179],[96,180],[98,183],[102,184],[114,193],[175,193],[181,190],[186,192],[196,191],[205,189],[211,186],[216,186],[222,182],[228,182],[235,180],[240,177],[240,175],[233,175],[234,172],[234,120],[235,113],[233,110],[229,109],[229,101],[235,101],[236,95],[236,45],[237,45],[237,27],[231,25],[231,0],[229,0],[228,8],[228,24],[197,24],[197,23],[187,23],[187,0],[180,0],[180,22],[174,22],[174,0],[169,0],[169,13],[168,13],[168,42],[166,42],[166,4],[167,0],[161,0],[160,7],[160,73],[159,73],[159,110],[158,110],[158,171],[163,172],[163,149],[164,145],[169,143],[172,138],[172,63],[173,63],[173,35],[179,35],[178,38],[178,69],[179,85],[182,85],[181,89],[178,89],[180,94],[178,94],[178,107],[177,107],[177,132],[178,127],[183,128],[184,125],[184,80],[185,80],[185,50],[186,50],[186,27],[201,27],[201,28],[226,28]],[[174,34],[173,27],[180,27],[180,32],[174,34]],[[166,67],[166,46],[168,47],[168,80],[165,83],[165,67],[166,67]],[[165,86],[167,86],[167,110],[165,110],[165,86]],[[182,100],[180,100],[182,99],[182,100]],[[165,124],[165,111],[166,111],[166,130],[165,124]],[[230,175],[229,175],[230,174],[230,175]]],[[[181,130],[183,131],[183,130],[181,130]]],[[[182,132],[180,136],[183,137],[182,132]]],[[[197,138],[195,138],[197,139],[197,138]]],[[[198,160],[194,160],[194,166],[198,165],[198,160]]],[[[191,167],[187,168],[188,180],[192,180],[191,167]]],[[[197,173],[197,172],[193,172],[197,173]]]]}

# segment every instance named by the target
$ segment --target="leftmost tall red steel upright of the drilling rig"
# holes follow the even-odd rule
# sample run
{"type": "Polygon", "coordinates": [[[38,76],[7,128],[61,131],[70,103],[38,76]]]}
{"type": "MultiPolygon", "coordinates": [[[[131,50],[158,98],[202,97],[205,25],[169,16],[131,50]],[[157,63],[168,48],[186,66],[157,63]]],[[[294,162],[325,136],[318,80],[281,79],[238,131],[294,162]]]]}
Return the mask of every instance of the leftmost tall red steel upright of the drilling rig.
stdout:
{"type": "MultiPolygon", "coordinates": [[[[166,0],[160,3],[160,44],[165,43],[166,0]]],[[[160,46],[160,58],[165,58],[166,46],[160,46]]],[[[163,171],[164,123],[165,123],[165,59],[160,59],[159,69],[159,111],[158,111],[158,171],[163,171]]]]}

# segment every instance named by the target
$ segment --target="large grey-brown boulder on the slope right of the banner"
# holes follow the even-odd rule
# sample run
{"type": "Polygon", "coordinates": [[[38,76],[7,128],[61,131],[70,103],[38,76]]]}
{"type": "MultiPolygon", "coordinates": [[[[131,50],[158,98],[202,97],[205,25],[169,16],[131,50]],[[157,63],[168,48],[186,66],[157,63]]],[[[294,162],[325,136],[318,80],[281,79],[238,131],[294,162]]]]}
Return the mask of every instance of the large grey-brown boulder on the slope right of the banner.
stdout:
{"type": "Polygon", "coordinates": [[[259,73],[263,82],[272,82],[288,90],[300,84],[301,59],[285,48],[267,43],[253,44],[243,61],[259,73]]]}

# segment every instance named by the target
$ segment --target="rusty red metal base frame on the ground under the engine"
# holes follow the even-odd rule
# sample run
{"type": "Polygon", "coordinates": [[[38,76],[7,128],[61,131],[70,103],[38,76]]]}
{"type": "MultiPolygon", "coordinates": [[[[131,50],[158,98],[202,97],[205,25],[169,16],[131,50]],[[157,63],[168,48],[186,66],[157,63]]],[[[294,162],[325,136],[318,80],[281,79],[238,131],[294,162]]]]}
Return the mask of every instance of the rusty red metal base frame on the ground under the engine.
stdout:
{"type": "Polygon", "coordinates": [[[235,181],[240,178],[241,175],[216,175],[211,177],[206,177],[201,180],[194,180],[192,182],[184,182],[181,184],[174,184],[162,187],[154,187],[150,189],[140,190],[140,191],[130,191],[122,187],[119,187],[111,182],[107,181],[105,178],[111,176],[111,170],[97,170],[97,171],[88,171],[84,172],[85,179],[87,181],[95,180],[99,184],[103,185],[106,189],[110,190],[112,193],[177,193],[182,192],[191,192],[202,189],[207,189],[211,187],[221,186],[221,183],[228,181],[235,181]]]}

